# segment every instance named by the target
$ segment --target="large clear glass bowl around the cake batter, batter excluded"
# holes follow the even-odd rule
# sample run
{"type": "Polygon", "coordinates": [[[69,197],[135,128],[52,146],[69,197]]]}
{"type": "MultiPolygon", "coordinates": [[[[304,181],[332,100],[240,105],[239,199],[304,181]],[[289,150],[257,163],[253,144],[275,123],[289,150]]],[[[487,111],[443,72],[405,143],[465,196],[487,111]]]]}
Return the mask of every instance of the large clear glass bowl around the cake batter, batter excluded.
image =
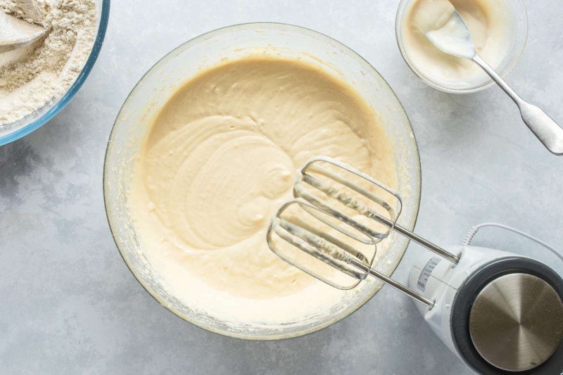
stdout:
{"type": "MultiPolygon", "coordinates": [[[[343,77],[371,103],[381,116],[386,134],[395,142],[398,191],[404,210],[398,223],[412,229],[420,200],[420,160],[415,135],[405,110],[379,73],[357,53],[334,39],[302,27],[273,23],[235,25],[208,32],[182,44],[148,70],[123,104],[110,134],[103,172],[103,196],[113,239],[123,260],[142,286],[160,304],[182,319],[208,331],[253,340],[274,340],[302,336],[330,326],[347,317],[372,298],[381,288],[370,283],[361,288],[346,308],[322,319],[287,324],[243,326],[196,312],[167,293],[158,274],[143,256],[127,209],[127,191],[132,184],[136,155],[150,129],[153,117],[174,93],[175,88],[199,71],[220,63],[257,53],[301,58],[343,77]]],[[[265,240],[265,239],[264,239],[265,240]]],[[[390,246],[377,269],[391,275],[407,248],[408,241],[393,234],[390,246]]],[[[348,302],[348,301],[347,301],[348,302]]],[[[259,323],[259,324],[258,324],[259,323]]]]}

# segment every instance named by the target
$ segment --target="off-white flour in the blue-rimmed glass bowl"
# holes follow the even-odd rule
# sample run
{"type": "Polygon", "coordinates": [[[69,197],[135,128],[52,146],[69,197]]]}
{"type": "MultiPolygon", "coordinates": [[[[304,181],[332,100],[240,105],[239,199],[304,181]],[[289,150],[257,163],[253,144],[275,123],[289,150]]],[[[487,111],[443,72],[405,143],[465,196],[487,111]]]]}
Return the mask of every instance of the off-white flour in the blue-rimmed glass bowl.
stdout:
{"type": "Polygon", "coordinates": [[[0,130],[61,97],[96,38],[94,0],[0,0],[0,11],[49,30],[23,58],[0,66],[0,130]]]}

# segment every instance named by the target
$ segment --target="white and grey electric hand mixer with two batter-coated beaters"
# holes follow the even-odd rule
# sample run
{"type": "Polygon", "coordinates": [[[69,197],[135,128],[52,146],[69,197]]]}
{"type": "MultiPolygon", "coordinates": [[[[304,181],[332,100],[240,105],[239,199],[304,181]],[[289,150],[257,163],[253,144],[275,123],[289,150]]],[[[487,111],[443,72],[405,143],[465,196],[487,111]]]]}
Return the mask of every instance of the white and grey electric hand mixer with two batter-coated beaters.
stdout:
{"type": "Polygon", "coordinates": [[[293,195],[296,199],[279,209],[267,233],[268,246],[286,262],[335,288],[354,288],[372,276],[405,293],[417,301],[443,343],[481,374],[563,374],[563,279],[550,267],[467,246],[471,238],[464,246],[436,246],[396,224],[402,205],[398,193],[331,158],[312,159],[298,171],[293,195]],[[306,219],[288,217],[286,211],[294,208],[306,219]],[[430,250],[415,262],[408,286],[378,272],[374,256],[358,250],[375,250],[393,231],[430,250]],[[309,261],[296,260],[277,246],[274,234],[353,282],[341,284],[339,275],[329,277],[309,261]]]}

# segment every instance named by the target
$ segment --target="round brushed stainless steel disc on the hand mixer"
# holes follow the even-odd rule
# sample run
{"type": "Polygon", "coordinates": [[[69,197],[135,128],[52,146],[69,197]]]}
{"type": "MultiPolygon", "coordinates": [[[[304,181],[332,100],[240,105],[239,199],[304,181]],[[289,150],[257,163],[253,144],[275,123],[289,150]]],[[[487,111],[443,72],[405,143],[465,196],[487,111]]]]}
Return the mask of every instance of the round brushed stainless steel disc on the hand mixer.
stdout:
{"type": "Polygon", "coordinates": [[[563,303],[550,284],[531,274],[507,274],[475,299],[469,331],[479,354],[507,371],[548,360],[563,336],[563,303]]]}

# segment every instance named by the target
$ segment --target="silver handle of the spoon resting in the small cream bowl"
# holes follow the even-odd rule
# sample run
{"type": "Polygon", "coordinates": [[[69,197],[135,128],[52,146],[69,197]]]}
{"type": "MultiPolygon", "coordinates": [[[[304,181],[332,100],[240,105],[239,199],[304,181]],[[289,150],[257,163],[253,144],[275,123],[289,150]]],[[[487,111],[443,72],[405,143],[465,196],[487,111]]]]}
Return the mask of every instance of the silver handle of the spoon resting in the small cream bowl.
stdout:
{"type": "Polygon", "coordinates": [[[493,81],[512,98],[520,110],[522,120],[528,125],[533,134],[536,134],[543,146],[555,155],[563,155],[563,128],[557,125],[557,122],[543,110],[521,98],[481,56],[475,53],[473,61],[481,66],[491,76],[493,81]]]}

